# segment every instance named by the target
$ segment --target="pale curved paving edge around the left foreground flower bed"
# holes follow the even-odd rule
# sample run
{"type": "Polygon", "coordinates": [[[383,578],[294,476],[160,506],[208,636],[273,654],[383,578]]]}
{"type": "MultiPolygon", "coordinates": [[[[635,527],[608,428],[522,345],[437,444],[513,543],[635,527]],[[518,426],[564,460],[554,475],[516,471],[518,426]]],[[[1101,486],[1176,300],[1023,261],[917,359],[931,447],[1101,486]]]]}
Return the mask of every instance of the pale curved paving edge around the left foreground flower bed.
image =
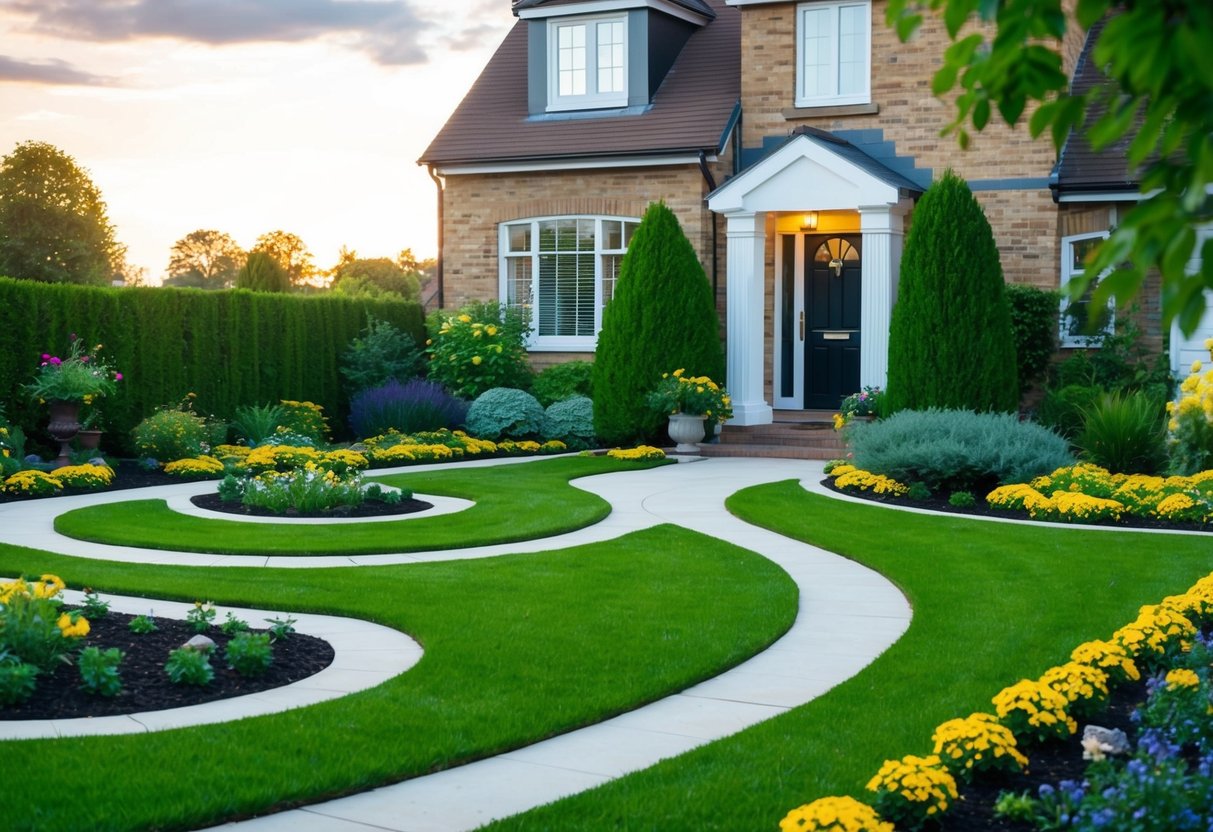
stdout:
{"type": "MultiPolygon", "coordinates": [[[[102,600],[109,602],[109,608],[114,612],[129,615],[152,615],[159,619],[184,621],[186,614],[194,609],[193,604],[183,602],[110,594],[101,594],[99,597],[102,600]]],[[[84,600],[84,593],[67,591],[63,593],[63,599],[69,604],[79,604],[84,600]]],[[[245,621],[286,616],[285,612],[239,606],[216,606],[215,609],[220,616],[230,612],[245,621]]],[[[295,612],[291,614],[291,617],[295,619],[296,632],[324,639],[336,654],[331,665],[306,679],[256,694],[229,696],[183,708],[79,719],[0,720],[0,741],[146,734],[280,713],[374,688],[404,673],[421,661],[421,645],[391,627],[382,627],[359,619],[312,612],[295,612]]]]}

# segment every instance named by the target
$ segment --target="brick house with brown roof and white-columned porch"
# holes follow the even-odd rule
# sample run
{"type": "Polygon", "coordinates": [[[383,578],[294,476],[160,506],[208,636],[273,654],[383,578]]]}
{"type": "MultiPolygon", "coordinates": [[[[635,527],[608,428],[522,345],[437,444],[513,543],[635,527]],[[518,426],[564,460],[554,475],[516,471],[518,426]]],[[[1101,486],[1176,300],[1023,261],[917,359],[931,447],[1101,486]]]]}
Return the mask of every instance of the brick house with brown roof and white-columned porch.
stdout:
{"type": "MultiPolygon", "coordinates": [[[[1002,125],[967,152],[940,137],[952,110],[930,78],[946,34],[928,21],[901,44],[883,0],[512,8],[420,164],[440,187],[443,306],[529,307],[537,366],[592,357],[653,200],[712,281],[747,426],[884,384],[905,230],[944,169],[981,203],[1007,280],[1042,287],[1072,277],[1134,199],[1123,161],[1117,178],[1089,149],[1058,164],[1048,142],[1002,125]]],[[[1084,63],[1081,38],[1064,52],[1067,72],[1084,63]]]]}

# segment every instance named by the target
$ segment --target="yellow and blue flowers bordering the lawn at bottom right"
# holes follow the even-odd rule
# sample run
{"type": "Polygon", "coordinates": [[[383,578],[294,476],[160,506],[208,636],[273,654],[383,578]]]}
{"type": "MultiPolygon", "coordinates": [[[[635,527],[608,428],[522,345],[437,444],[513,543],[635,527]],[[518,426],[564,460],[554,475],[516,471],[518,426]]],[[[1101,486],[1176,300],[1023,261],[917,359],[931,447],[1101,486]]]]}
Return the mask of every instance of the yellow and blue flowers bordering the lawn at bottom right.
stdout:
{"type": "MultiPolygon", "coordinates": [[[[1150,679],[1145,701],[1133,712],[1140,729],[1135,747],[1127,739],[1116,747],[1107,734],[1083,736],[1082,758],[1090,764],[1081,777],[1046,782],[1035,797],[1004,792],[995,807],[997,822],[983,828],[1178,832],[1213,827],[1213,720],[1208,718],[1213,712],[1213,634],[1198,629],[1211,623],[1213,575],[1184,594],[1143,606],[1109,640],[1078,645],[1067,663],[1049,668],[1040,679],[1021,679],[1003,689],[991,700],[997,716],[978,713],[945,722],[933,736],[933,756],[887,760],[867,785],[875,793],[870,797],[873,814],[865,814],[854,828],[879,828],[885,821],[895,821],[898,830],[921,828],[955,804],[959,792],[953,775],[980,781],[991,770],[1030,765],[1037,750],[1060,742],[1076,746],[1074,714],[1103,719],[1105,711],[1095,706],[1103,706],[1111,690],[1139,678],[1139,666],[1150,679]],[[1128,819],[1132,826],[1112,825],[1128,819]]],[[[837,825],[837,811],[810,811],[824,800],[854,802],[822,798],[793,809],[780,827],[852,828],[837,825]]],[[[848,804],[848,811],[858,817],[861,809],[848,804]]]]}

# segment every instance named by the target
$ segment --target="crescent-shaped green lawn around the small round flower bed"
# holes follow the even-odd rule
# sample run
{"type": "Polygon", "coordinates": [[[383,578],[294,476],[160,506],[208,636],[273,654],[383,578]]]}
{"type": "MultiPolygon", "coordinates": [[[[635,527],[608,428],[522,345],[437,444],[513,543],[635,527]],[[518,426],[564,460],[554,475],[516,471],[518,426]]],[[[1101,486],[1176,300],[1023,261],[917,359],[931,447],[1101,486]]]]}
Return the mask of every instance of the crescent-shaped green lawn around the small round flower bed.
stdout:
{"type": "Polygon", "coordinates": [[[569,480],[653,466],[605,456],[566,456],[375,477],[420,494],[475,502],[454,515],[395,523],[258,524],[252,535],[247,523],[178,514],[163,500],[131,500],[66,512],[55,520],[55,529],[95,543],[216,554],[378,554],[489,546],[537,540],[597,523],[610,513],[610,506],[573,488],[569,480]]]}

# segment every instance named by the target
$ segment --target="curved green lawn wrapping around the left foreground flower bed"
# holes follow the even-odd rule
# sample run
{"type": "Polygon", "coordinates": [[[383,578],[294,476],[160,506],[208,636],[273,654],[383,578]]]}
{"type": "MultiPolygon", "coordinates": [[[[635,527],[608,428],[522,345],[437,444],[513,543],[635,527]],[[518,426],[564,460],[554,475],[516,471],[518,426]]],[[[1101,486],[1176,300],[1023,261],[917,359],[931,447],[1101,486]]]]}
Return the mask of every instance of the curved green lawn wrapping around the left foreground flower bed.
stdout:
{"type": "Polygon", "coordinates": [[[377,688],[283,714],[2,742],[5,830],[195,828],[496,754],[712,677],[782,634],[797,604],[770,562],[674,526],[358,569],[137,566],[0,546],[0,574],[46,571],[103,592],[361,617],[426,655],[377,688]]]}

